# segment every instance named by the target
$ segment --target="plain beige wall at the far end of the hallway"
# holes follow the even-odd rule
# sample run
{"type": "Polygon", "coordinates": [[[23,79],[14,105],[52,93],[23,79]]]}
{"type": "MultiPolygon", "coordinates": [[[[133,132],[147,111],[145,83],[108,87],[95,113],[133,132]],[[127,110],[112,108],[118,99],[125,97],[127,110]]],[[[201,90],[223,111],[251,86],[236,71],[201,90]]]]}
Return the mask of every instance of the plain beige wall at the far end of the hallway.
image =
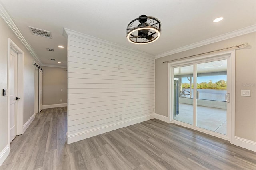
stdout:
{"type": "Polygon", "coordinates": [[[42,67],[43,69],[43,105],[67,103],[67,69],[42,67]],[[60,91],[63,89],[63,91],[60,91]],[[60,102],[62,99],[62,102],[60,102]]]}

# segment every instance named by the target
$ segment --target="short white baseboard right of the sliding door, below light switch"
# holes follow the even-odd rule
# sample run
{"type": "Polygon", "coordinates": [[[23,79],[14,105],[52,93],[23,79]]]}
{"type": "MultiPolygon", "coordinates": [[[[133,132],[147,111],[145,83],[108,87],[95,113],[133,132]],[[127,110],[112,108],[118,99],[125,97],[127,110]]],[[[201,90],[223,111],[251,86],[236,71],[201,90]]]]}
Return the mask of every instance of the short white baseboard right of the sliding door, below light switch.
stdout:
{"type": "Polygon", "coordinates": [[[235,136],[234,140],[231,140],[230,143],[256,152],[256,142],[252,140],[247,140],[247,139],[235,136]]]}

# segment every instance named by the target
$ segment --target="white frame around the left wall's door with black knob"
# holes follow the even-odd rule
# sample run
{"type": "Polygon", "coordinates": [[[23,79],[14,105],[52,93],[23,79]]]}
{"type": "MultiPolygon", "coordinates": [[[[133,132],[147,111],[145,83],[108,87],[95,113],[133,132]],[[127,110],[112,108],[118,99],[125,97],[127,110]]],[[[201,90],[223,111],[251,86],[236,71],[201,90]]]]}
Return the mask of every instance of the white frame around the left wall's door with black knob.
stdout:
{"type": "MultiPolygon", "coordinates": [[[[24,53],[10,38],[8,38],[8,57],[7,57],[7,88],[10,89],[10,50],[14,50],[17,57],[17,135],[23,134],[23,69],[24,53]]],[[[8,144],[10,144],[10,95],[7,93],[7,114],[8,114],[8,144]]]]}

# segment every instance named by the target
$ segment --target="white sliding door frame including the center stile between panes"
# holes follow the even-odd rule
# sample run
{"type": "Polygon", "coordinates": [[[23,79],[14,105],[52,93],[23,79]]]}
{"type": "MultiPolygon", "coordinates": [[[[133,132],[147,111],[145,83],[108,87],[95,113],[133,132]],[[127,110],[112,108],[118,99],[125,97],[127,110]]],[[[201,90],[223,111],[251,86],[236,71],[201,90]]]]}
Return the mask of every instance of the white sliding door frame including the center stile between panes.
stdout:
{"type": "MultiPolygon", "coordinates": [[[[196,76],[196,69],[193,71],[193,75],[196,76]]],[[[194,77],[193,76],[193,77],[194,77]]],[[[196,77],[194,77],[194,83],[196,82],[196,77]]],[[[196,88],[193,89],[196,91],[196,88]]],[[[196,94],[196,93],[195,93],[196,94]]],[[[196,97],[194,97],[194,105],[196,105],[196,97]]],[[[170,123],[175,123],[178,125],[182,125],[187,128],[191,128],[206,134],[210,134],[212,136],[216,136],[218,138],[222,138],[228,141],[233,141],[235,136],[235,50],[232,51],[225,51],[221,53],[214,53],[211,55],[203,55],[200,57],[193,57],[189,59],[181,59],[180,61],[174,61],[168,63],[168,120],[170,123]],[[173,68],[177,66],[185,66],[185,65],[196,65],[196,63],[202,62],[210,62],[216,61],[221,59],[227,59],[228,65],[227,70],[230,73],[227,75],[228,80],[228,89],[227,93],[230,93],[230,103],[227,105],[227,110],[230,113],[227,113],[227,135],[218,134],[217,132],[212,132],[210,130],[206,130],[204,128],[196,127],[196,107],[193,106],[193,124],[190,125],[188,123],[183,123],[180,121],[176,121],[173,119],[173,68]],[[196,63],[195,63],[196,62],[196,63]]]]}

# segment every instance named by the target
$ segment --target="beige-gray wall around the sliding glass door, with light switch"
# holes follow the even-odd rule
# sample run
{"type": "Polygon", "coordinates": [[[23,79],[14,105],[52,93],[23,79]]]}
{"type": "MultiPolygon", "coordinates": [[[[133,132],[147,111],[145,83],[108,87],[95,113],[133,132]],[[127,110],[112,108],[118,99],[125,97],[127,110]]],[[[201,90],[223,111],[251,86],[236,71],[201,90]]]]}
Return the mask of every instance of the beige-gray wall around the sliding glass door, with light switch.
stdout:
{"type": "Polygon", "coordinates": [[[180,59],[207,51],[248,42],[245,49],[236,50],[235,135],[256,142],[256,33],[204,45],[156,59],[155,107],[156,113],[167,116],[168,65],[164,61],[180,59]],[[251,86],[244,87],[244,84],[251,86]],[[251,97],[241,96],[241,90],[251,90],[251,97]]]}

